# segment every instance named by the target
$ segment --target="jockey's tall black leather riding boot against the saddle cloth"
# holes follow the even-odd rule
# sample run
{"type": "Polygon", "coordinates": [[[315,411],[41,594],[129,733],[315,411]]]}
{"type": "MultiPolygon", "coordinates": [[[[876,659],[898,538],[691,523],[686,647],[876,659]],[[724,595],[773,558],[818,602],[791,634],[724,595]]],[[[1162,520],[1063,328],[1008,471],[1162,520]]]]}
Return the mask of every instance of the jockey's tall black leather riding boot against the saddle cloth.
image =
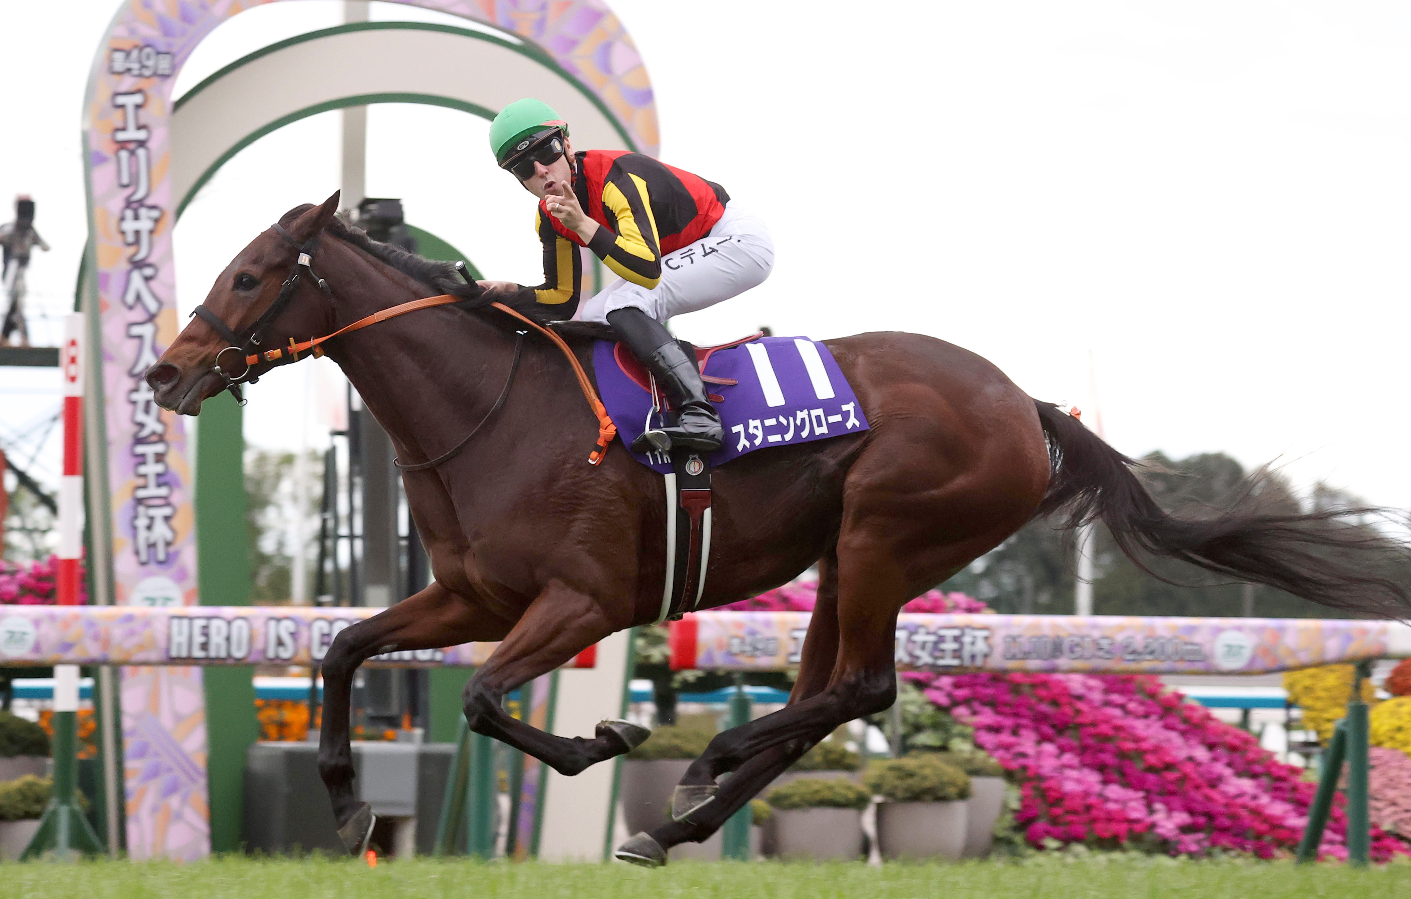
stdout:
{"type": "Polygon", "coordinates": [[[638,453],[667,452],[672,447],[697,453],[718,450],[725,436],[720,415],[706,397],[696,360],[676,343],[666,326],[634,306],[610,312],[608,325],[642,360],[677,412],[674,426],[648,430],[632,442],[632,449],[638,453]]]}

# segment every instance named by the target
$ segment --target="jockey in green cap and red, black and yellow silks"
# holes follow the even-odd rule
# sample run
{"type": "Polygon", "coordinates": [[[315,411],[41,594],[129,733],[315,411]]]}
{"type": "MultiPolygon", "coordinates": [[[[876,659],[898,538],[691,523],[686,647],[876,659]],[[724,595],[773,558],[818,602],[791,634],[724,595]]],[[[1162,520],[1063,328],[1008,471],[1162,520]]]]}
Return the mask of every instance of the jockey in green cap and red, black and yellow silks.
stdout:
{"type": "MultiPolygon", "coordinates": [[[[540,303],[563,318],[611,325],[656,378],[679,412],[672,428],[649,430],[638,452],[718,450],[722,432],[696,360],[665,322],[729,299],[763,282],[775,264],[765,223],[718,183],[624,150],[574,152],[569,126],[547,104],[525,99],[490,126],[490,147],[539,198],[535,230],[543,241],[540,303]],[[581,306],[587,247],[618,275],[581,306]]],[[[488,289],[516,284],[481,281],[488,289]]]]}

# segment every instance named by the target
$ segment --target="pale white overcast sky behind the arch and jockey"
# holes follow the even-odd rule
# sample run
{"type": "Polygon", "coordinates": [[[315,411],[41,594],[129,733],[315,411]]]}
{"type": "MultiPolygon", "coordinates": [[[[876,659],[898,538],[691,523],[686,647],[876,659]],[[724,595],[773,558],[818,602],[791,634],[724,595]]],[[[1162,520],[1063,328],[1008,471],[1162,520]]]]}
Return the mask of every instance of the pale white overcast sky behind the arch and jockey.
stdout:
{"type": "MultiPolygon", "coordinates": [[[[662,157],[725,185],[776,241],[770,279],[673,320],[683,336],[916,330],[1078,404],[1091,351],[1126,453],[1280,460],[1304,485],[1411,505],[1411,7],[611,6],[646,61],[662,157]]],[[[72,302],[80,103],[116,8],[0,4],[0,200],[38,202],[54,251],[30,285],[52,313],[72,302]]],[[[243,13],[198,48],[178,95],[340,17],[332,0],[243,13]]],[[[539,279],[533,200],[494,168],[487,123],[406,106],[370,119],[370,195],[404,198],[487,277],[539,279]]],[[[337,113],[226,165],[176,229],[182,312],[255,233],[337,183],[337,113]]],[[[55,381],[0,370],[0,439],[56,409],[55,381]]],[[[251,391],[251,442],[281,439],[305,382],[278,373],[251,391]]]]}

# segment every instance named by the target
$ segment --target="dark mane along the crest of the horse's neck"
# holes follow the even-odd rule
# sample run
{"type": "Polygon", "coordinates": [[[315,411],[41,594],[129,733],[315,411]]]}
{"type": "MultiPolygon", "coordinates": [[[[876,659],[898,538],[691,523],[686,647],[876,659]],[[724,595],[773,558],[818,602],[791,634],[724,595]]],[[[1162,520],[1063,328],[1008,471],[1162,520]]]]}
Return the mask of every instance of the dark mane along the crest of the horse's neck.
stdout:
{"type": "MultiPolygon", "coordinates": [[[[308,210],[313,209],[313,203],[305,203],[302,206],[295,206],[289,212],[284,213],[279,219],[281,226],[289,224],[292,220],[298,219],[308,210]]],[[[532,289],[523,289],[518,294],[497,294],[494,296],[478,291],[474,285],[466,284],[466,281],[456,271],[454,263],[443,263],[439,260],[429,260],[423,255],[418,255],[395,244],[385,244],[378,240],[368,237],[367,231],[363,229],[349,224],[343,219],[334,216],[329,222],[325,233],[333,234],[339,240],[353,244],[358,250],[363,250],[373,258],[387,263],[404,275],[409,275],[416,281],[420,281],[432,291],[440,294],[450,294],[453,296],[464,296],[464,303],[456,303],[457,308],[466,310],[484,309],[492,302],[501,302],[519,315],[543,325],[545,327],[552,327],[564,337],[569,339],[584,339],[584,340],[615,340],[617,332],[614,332],[607,325],[598,325],[597,322],[564,322],[555,318],[553,310],[543,303],[535,301],[532,289]]],[[[494,322],[505,330],[514,330],[515,320],[504,315],[485,316],[487,320],[494,322]]]]}

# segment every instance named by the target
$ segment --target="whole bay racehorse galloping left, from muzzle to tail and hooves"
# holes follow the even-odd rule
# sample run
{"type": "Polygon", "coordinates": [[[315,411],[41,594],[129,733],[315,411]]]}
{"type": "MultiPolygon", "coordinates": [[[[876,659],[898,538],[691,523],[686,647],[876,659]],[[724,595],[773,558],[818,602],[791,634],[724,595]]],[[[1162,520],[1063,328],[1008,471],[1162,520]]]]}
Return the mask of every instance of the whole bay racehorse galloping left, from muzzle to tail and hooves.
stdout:
{"type": "MultiPolygon", "coordinates": [[[[291,361],[286,353],[246,366],[255,347],[327,334],[428,294],[464,299],[322,347],[408,466],[406,498],[435,574],[416,596],[339,634],[323,660],[319,771],[356,852],[371,816],[353,792],[350,687],[373,655],[501,641],[466,686],[470,727],[564,775],[646,737],[619,721],[604,721],[591,738],[556,737],[515,720],[501,700],[658,617],[666,511],[662,478],[621,442],[601,464],[587,463],[598,421],[566,356],[490,302],[543,323],[552,309],[529,291],[488,296],[450,264],[370,240],[334,217],[337,200],[289,210],[241,250],[147,381],[164,408],[196,415],[233,382],[291,361]],[[516,330],[529,334],[521,342],[516,330]]],[[[555,327],[591,371],[587,337],[610,334],[555,327]]],[[[1411,608],[1407,591],[1377,573],[1400,546],[1345,526],[1336,512],[1287,514],[1247,491],[1225,509],[1167,514],[1130,459],[974,353],[910,333],[825,343],[872,428],[751,453],[715,473],[700,604],[756,596],[818,563],[818,603],[789,706],[718,734],[677,789],[680,820],[632,837],[619,858],[663,864],[666,850],[707,838],[840,724],[888,708],[897,610],[1036,517],[1062,514],[1070,526],[1101,519],[1139,563],[1184,559],[1336,610],[1404,617],[1411,608]]]]}

